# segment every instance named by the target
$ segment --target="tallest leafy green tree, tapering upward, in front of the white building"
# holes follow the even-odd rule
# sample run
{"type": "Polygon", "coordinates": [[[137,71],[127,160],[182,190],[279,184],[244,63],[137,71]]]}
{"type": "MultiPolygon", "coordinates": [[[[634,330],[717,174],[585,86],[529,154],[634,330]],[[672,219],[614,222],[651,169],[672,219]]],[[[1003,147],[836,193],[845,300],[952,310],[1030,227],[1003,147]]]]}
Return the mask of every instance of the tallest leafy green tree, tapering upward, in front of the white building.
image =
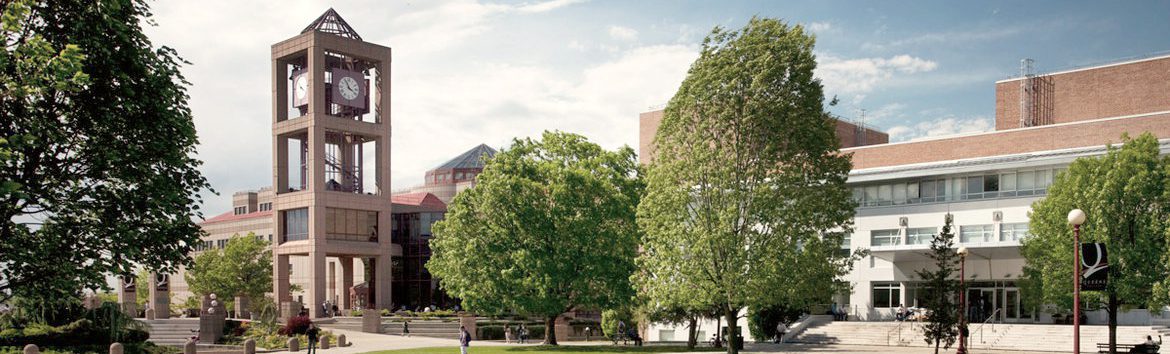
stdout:
{"type": "Polygon", "coordinates": [[[827,299],[848,271],[838,248],[852,228],[852,164],[824,111],[813,43],[759,18],[703,41],[666,107],[638,208],[638,289],[651,299],[714,301],[739,333],[741,308],[827,299]]]}

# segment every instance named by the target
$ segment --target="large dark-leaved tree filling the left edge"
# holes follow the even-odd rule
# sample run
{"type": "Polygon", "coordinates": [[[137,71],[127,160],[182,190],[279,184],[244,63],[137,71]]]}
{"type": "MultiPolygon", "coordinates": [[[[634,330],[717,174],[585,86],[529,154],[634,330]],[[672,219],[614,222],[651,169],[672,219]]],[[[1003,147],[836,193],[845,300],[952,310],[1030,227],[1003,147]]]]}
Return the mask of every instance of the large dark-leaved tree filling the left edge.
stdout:
{"type": "Polygon", "coordinates": [[[0,300],[173,271],[201,235],[183,60],[142,0],[0,1],[0,300]]]}

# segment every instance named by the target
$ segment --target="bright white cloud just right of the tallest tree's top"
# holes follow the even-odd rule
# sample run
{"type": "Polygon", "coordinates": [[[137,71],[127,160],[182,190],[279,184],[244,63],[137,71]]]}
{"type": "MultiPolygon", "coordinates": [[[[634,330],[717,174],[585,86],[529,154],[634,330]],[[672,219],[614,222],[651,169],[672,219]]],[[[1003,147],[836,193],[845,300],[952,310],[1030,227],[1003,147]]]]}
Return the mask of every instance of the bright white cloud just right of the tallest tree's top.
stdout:
{"type": "Polygon", "coordinates": [[[847,60],[826,54],[820,54],[817,57],[817,77],[821,79],[828,96],[865,95],[896,74],[918,74],[938,68],[938,63],[934,61],[904,54],[888,58],[847,60]]]}

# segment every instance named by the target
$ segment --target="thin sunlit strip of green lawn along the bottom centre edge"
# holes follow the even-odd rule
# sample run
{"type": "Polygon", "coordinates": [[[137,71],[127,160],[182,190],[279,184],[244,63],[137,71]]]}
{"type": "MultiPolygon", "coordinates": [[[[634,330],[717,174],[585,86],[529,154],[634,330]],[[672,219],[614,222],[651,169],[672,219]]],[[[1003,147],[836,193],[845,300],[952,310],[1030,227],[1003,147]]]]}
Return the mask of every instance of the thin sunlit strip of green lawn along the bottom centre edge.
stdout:
{"type": "MultiPolygon", "coordinates": [[[[711,348],[711,347],[697,347],[694,352],[724,352],[725,348],[711,348]]],[[[688,352],[686,346],[645,346],[645,347],[624,347],[624,346],[524,346],[524,347],[477,347],[472,343],[468,348],[468,354],[571,354],[571,353],[680,353],[688,352]]],[[[452,354],[459,353],[459,347],[432,347],[432,348],[414,348],[414,349],[400,349],[400,350],[383,350],[383,352],[370,352],[366,354],[397,354],[397,353],[414,353],[414,354],[452,354]]]]}

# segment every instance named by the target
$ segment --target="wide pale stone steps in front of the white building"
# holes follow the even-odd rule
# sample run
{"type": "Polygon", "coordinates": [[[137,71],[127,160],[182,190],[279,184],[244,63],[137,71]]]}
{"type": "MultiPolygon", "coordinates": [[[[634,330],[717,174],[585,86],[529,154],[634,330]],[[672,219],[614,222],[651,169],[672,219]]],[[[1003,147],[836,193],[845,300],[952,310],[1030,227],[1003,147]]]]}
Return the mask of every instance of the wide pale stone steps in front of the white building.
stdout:
{"type": "MultiPolygon", "coordinates": [[[[1157,335],[1150,326],[1117,326],[1117,343],[1141,343],[1145,335],[1157,335]]],[[[1170,332],[1170,329],[1162,329],[1170,332]]],[[[796,342],[838,343],[855,346],[929,347],[917,322],[833,321],[810,326],[796,342]]],[[[1096,343],[1109,341],[1108,326],[1081,326],[1081,352],[1095,353],[1096,343]]],[[[955,346],[957,346],[956,343],[955,346]]],[[[952,347],[955,347],[952,346],[952,347]]],[[[991,324],[971,326],[970,349],[1069,352],[1073,347],[1073,326],[1032,324],[991,324]]]]}

